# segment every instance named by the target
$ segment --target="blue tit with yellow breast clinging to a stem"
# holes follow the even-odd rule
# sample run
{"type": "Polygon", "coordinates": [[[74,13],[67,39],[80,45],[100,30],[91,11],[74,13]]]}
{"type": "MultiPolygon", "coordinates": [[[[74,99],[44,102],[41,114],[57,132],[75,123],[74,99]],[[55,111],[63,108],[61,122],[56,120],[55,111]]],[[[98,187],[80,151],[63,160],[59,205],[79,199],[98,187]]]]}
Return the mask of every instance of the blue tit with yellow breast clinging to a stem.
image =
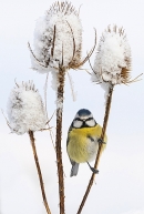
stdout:
{"type": "Polygon", "coordinates": [[[101,133],[102,128],[92,113],[86,109],[79,110],[68,132],[66,151],[72,164],[70,176],[78,174],[80,163],[88,163],[92,172],[99,172],[89,162],[96,159],[100,142],[102,151],[106,145],[107,137],[105,135],[102,142],[101,133]]]}

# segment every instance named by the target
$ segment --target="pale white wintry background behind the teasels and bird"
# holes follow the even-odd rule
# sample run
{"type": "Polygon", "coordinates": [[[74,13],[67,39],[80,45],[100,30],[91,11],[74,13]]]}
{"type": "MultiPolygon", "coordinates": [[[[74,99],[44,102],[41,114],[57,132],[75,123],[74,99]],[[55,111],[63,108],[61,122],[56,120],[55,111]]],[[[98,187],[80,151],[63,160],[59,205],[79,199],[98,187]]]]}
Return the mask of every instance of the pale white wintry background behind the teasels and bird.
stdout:
{"type": "MultiPolygon", "coordinates": [[[[18,82],[33,80],[43,96],[45,74],[31,70],[28,41],[33,41],[35,20],[53,3],[51,0],[0,1],[0,108],[7,115],[10,90],[18,82]]],[[[109,24],[123,26],[132,49],[132,77],[144,72],[144,10],[143,0],[73,0],[82,4],[83,57],[109,24]]],[[[95,50],[96,52],[96,50],[95,50]]],[[[91,58],[93,64],[95,52],[91,58]]],[[[84,69],[90,69],[86,63],[84,69]]],[[[69,79],[65,81],[62,151],[65,173],[66,214],[78,211],[91,176],[86,164],[80,165],[76,177],[70,177],[71,164],[66,155],[66,132],[78,110],[89,109],[102,124],[104,92],[91,82],[84,71],[70,71],[76,91],[72,101],[69,79]]],[[[143,79],[143,78],[142,78],[143,79]]],[[[55,92],[48,85],[48,113],[55,110],[55,92]]],[[[128,86],[115,86],[107,126],[107,147],[102,155],[96,176],[83,214],[144,213],[144,80],[128,86]]],[[[55,131],[54,119],[51,122],[55,131]]],[[[39,160],[49,205],[59,213],[55,153],[49,132],[35,133],[39,160]]],[[[28,134],[10,134],[0,113],[0,214],[45,214],[39,180],[28,134]]]]}

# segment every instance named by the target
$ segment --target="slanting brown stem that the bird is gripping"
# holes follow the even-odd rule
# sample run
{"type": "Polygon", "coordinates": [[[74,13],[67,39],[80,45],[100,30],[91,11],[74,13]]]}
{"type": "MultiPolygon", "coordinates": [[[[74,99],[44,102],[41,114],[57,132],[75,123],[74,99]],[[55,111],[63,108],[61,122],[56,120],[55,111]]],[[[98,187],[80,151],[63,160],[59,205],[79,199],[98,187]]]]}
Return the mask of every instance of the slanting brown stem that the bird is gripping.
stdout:
{"type": "MultiPolygon", "coordinates": [[[[102,133],[101,133],[102,141],[104,141],[104,135],[105,135],[105,132],[106,132],[106,126],[107,126],[107,121],[109,121],[109,115],[110,115],[110,109],[111,109],[111,102],[112,102],[112,94],[113,94],[113,85],[111,85],[110,89],[109,89],[109,95],[107,95],[107,101],[106,101],[106,106],[105,106],[105,114],[104,114],[104,120],[103,120],[103,129],[102,129],[102,133]]],[[[99,151],[97,151],[94,169],[97,169],[101,150],[102,150],[102,143],[100,143],[100,145],[99,145],[99,151]]],[[[85,194],[84,194],[83,200],[81,202],[81,205],[79,207],[78,214],[81,214],[81,212],[82,212],[82,208],[83,208],[83,206],[86,202],[88,195],[89,195],[89,193],[91,191],[91,187],[93,185],[94,177],[95,177],[95,173],[93,173],[91,179],[90,179],[88,188],[85,191],[85,194]]]]}

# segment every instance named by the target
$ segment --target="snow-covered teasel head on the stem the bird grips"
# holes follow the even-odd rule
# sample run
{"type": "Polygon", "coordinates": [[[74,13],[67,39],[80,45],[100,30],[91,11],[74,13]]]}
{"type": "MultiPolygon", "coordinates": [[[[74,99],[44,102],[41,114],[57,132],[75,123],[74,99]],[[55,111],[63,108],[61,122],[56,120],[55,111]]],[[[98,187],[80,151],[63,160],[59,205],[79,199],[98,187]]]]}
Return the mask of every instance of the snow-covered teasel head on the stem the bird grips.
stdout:
{"type": "Polygon", "coordinates": [[[126,84],[130,82],[130,71],[131,49],[124,29],[109,26],[99,43],[92,81],[126,84]]]}

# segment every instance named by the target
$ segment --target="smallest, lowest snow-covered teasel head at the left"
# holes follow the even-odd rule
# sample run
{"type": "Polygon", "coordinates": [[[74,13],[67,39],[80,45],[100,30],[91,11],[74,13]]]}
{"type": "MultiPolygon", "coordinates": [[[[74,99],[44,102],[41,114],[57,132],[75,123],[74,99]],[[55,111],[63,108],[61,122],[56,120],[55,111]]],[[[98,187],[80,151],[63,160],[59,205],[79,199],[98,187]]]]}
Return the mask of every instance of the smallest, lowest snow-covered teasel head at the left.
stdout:
{"type": "Polygon", "coordinates": [[[22,82],[11,90],[8,100],[9,126],[13,133],[24,134],[45,128],[47,116],[41,95],[32,81],[22,82]]]}

